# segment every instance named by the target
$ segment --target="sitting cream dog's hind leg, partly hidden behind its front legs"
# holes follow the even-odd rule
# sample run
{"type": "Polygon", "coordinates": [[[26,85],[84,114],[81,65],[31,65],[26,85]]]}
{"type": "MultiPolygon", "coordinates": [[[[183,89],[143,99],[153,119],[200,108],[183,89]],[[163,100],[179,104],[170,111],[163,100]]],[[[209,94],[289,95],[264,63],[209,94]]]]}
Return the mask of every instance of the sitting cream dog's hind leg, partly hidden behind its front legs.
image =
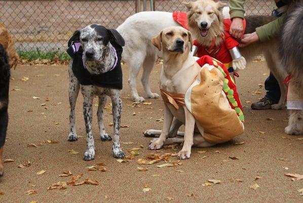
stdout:
{"type": "MultiPolygon", "coordinates": [[[[183,123],[181,121],[179,121],[178,119],[176,119],[174,117],[171,127],[169,129],[168,137],[174,138],[176,136],[184,136],[184,132],[178,131],[178,129],[180,128],[180,126],[182,124],[183,123]]],[[[160,136],[161,132],[162,132],[162,130],[148,129],[143,132],[143,135],[145,137],[153,138],[153,137],[160,136]]]]}

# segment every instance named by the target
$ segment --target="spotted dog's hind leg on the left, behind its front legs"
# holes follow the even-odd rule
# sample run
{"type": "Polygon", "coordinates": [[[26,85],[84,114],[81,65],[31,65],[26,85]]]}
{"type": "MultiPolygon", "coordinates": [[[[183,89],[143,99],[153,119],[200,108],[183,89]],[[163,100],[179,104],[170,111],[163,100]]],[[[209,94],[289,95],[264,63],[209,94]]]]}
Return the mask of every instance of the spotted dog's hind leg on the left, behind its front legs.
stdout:
{"type": "Polygon", "coordinates": [[[72,70],[71,70],[71,63],[70,62],[70,67],[68,69],[69,73],[69,88],[68,88],[68,98],[69,98],[69,106],[70,106],[70,113],[69,113],[69,134],[67,137],[68,141],[77,141],[77,132],[75,128],[75,104],[77,101],[77,97],[79,94],[79,89],[80,89],[80,83],[78,79],[73,75],[72,70]]]}

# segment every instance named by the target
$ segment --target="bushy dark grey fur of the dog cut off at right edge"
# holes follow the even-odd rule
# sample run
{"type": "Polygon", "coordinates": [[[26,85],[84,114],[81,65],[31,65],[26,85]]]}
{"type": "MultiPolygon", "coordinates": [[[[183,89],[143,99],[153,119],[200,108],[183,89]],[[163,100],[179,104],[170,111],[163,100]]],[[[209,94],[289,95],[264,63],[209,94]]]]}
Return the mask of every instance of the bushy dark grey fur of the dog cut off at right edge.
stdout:
{"type": "Polygon", "coordinates": [[[303,1],[294,1],[281,33],[282,63],[291,77],[303,85],[303,1]]]}

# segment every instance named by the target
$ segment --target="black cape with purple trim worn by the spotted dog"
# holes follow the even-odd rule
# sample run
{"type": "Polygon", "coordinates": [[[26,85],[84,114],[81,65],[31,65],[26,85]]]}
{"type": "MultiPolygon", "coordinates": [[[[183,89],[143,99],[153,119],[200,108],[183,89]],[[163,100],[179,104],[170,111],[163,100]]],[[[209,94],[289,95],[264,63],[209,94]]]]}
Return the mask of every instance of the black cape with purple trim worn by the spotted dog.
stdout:
{"type": "Polygon", "coordinates": [[[73,42],[66,50],[72,60],[72,72],[79,80],[81,85],[95,85],[104,88],[122,89],[122,67],[121,55],[123,48],[119,45],[112,44],[115,55],[115,63],[109,71],[102,74],[91,74],[85,67],[85,58],[83,57],[83,49],[78,44],[73,42]]]}

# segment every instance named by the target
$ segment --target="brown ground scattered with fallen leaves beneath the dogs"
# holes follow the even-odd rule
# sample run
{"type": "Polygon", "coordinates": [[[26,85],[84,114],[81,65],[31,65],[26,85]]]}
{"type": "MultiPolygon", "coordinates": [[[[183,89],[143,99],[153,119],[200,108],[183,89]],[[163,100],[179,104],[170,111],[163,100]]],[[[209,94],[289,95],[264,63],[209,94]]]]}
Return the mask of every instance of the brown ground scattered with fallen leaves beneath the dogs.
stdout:
{"type": "MultiPolygon", "coordinates": [[[[156,121],[163,116],[162,99],[146,99],[152,104],[132,107],[132,101],[127,98],[130,93],[128,66],[124,65],[123,70],[122,125],[129,127],[121,128],[121,141],[134,144],[122,146],[127,155],[128,149],[143,146],[139,155],[126,163],[113,158],[111,142],[101,142],[96,119],[97,105],[93,107],[96,158],[89,162],[82,159],[86,141],[81,95],[76,113],[78,136],[83,138],[77,142],[66,141],[69,130],[66,66],[19,65],[12,70],[10,121],[4,159],[16,161],[4,163],[5,174],[0,178],[0,192],[4,193],[0,195],[1,202],[302,202],[303,196],[299,195],[298,189],[303,188],[303,180],[291,181],[291,178],[284,176],[287,173],[303,174],[303,141],[297,140],[302,136],[284,134],[286,110],[250,109],[250,102],[264,94],[264,89],[258,85],[263,84],[267,77],[264,62],[250,63],[237,79],[244,106],[244,134],[215,147],[193,148],[191,158],[180,161],[182,165],[164,168],[157,167],[164,161],[152,165],[137,163],[138,158],[156,153],[147,149],[150,139],[144,138],[142,132],[162,127],[162,123],[156,121]],[[21,81],[23,77],[29,79],[21,81]],[[261,94],[252,94],[252,91],[258,90],[261,94]],[[34,99],[33,96],[41,99],[34,99]],[[46,140],[59,143],[40,145],[46,140]],[[240,142],[244,144],[236,145],[240,142]],[[27,147],[29,143],[37,147],[27,147]],[[68,150],[72,149],[79,154],[70,154],[68,150]],[[234,156],[239,159],[230,158],[234,156]],[[28,160],[30,166],[18,167],[28,160]],[[106,172],[88,171],[86,168],[100,162],[106,164],[106,172]],[[147,167],[148,171],[139,172],[137,166],[147,167]],[[46,172],[36,175],[42,170],[46,172]],[[73,175],[83,174],[81,180],[97,180],[99,185],[68,185],[65,190],[47,190],[53,183],[71,179],[73,175],[58,176],[66,170],[73,175]],[[255,177],[260,179],[255,180],[255,177]],[[207,186],[205,183],[209,179],[220,180],[221,183],[207,186]],[[256,186],[255,183],[259,188],[251,189],[250,186],[256,186]],[[144,193],[142,189],[145,186],[151,190],[144,193]],[[25,194],[28,190],[37,193],[25,194]]],[[[151,86],[158,93],[159,73],[160,65],[156,65],[151,75],[151,86]]],[[[138,89],[145,96],[141,84],[138,89]]],[[[97,99],[94,104],[96,102],[97,99]]],[[[106,107],[110,109],[108,105],[106,107]]],[[[112,127],[108,125],[112,122],[110,111],[105,110],[104,121],[107,132],[111,134],[112,127]]],[[[178,150],[180,146],[177,149],[162,149],[159,153],[175,153],[178,150]]],[[[170,159],[177,161],[176,157],[170,159]]]]}

